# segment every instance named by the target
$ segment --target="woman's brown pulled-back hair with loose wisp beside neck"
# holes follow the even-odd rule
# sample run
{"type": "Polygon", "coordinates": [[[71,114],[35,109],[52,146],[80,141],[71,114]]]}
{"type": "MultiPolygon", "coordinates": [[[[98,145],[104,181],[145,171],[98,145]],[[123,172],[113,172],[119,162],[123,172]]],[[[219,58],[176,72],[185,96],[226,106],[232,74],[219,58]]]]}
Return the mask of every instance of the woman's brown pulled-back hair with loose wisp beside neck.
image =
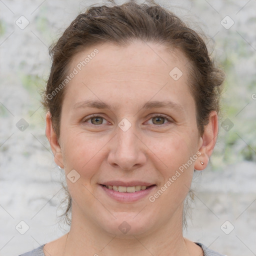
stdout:
{"type": "MultiPolygon", "coordinates": [[[[187,58],[191,66],[188,86],[195,100],[196,122],[201,135],[204,125],[209,121],[210,112],[219,112],[221,84],[224,80],[224,73],[210,58],[202,36],[153,0],[141,4],[133,0],[121,5],[115,4],[113,0],[111,3],[111,6],[90,6],[80,13],[49,49],[52,65],[42,94],[42,104],[51,114],[57,136],[60,134],[61,106],[66,87],[60,87],[60,84],[67,76],[72,57],[81,50],[104,42],[123,46],[135,40],[177,49],[187,58]]],[[[64,215],[70,223],[69,193],[67,198],[64,215]]]]}

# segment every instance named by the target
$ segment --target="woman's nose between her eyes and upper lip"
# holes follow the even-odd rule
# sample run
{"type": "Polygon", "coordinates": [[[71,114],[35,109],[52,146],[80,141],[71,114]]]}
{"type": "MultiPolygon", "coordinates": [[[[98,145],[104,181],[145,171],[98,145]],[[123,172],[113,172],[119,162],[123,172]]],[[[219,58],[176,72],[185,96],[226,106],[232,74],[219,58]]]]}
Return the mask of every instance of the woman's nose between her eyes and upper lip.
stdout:
{"type": "Polygon", "coordinates": [[[133,125],[123,131],[116,128],[117,134],[111,140],[111,149],[107,161],[114,167],[133,170],[146,163],[145,145],[133,125]]]}

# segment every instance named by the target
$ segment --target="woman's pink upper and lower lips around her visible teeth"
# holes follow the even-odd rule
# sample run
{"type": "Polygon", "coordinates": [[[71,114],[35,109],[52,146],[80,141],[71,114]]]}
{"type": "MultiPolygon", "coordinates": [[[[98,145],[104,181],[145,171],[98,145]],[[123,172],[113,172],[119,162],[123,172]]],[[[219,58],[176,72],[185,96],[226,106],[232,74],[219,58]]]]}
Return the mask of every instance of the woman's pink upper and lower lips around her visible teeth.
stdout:
{"type": "MultiPolygon", "coordinates": [[[[113,183],[111,183],[113,184],[113,183]]],[[[111,185],[110,183],[106,182],[105,185],[111,185]]],[[[146,196],[148,196],[148,194],[156,187],[156,185],[154,184],[149,184],[149,183],[145,183],[145,182],[136,182],[136,183],[132,183],[132,182],[119,182],[119,185],[122,186],[134,186],[131,184],[135,184],[135,185],[146,185],[149,186],[148,188],[146,188],[145,190],[140,190],[140,191],[136,191],[133,193],[128,193],[128,192],[118,192],[118,191],[114,191],[112,189],[108,189],[106,188],[103,184],[99,184],[99,186],[101,187],[101,189],[103,190],[103,192],[111,197],[112,199],[119,201],[119,202],[135,202],[138,201],[146,196]],[[124,185],[126,184],[126,185],[124,185]],[[128,184],[128,185],[127,185],[128,184]],[[149,185],[148,185],[149,184],[149,185]]],[[[117,183],[113,184],[113,185],[117,185],[117,183]]]]}

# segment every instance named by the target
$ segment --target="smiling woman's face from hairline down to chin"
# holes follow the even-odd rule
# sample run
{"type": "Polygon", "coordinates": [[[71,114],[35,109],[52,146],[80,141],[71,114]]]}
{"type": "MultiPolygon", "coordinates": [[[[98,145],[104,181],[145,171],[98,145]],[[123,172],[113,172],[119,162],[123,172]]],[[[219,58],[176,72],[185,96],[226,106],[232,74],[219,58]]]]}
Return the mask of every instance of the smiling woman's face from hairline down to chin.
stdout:
{"type": "Polygon", "coordinates": [[[74,56],[55,154],[74,221],[115,235],[181,221],[202,145],[186,62],[177,50],[144,42],[74,56]]]}

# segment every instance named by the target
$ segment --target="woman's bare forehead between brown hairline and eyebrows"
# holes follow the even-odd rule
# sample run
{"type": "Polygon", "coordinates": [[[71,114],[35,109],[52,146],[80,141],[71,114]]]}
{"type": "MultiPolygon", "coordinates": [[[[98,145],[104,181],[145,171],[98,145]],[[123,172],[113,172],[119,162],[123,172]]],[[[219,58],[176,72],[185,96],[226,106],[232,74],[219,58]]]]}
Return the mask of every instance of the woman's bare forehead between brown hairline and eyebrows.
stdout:
{"type": "Polygon", "coordinates": [[[152,42],[95,45],[70,62],[70,73],[76,71],[65,88],[64,102],[74,107],[93,98],[120,110],[124,102],[135,109],[149,100],[172,100],[191,110],[194,102],[186,63],[180,51],[152,42]]]}

